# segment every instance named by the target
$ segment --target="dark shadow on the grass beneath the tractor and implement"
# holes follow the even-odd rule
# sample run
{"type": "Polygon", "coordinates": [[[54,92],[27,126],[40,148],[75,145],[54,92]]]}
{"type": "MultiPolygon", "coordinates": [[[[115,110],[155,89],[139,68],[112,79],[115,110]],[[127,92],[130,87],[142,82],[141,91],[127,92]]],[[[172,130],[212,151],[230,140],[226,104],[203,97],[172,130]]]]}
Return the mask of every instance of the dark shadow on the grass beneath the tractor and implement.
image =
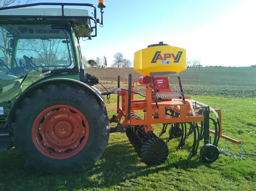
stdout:
{"type": "MultiPolygon", "coordinates": [[[[170,150],[171,152],[171,150],[170,150]]],[[[175,153],[170,153],[178,156],[175,153]]],[[[69,176],[37,175],[34,170],[23,167],[23,161],[16,157],[15,150],[0,153],[0,187],[4,190],[83,190],[99,187],[109,188],[126,180],[148,176],[171,168],[188,170],[202,165],[198,160],[187,163],[185,158],[171,159],[160,165],[148,167],[140,161],[133,146],[128,141],[112,142],[100,160],[84,173],[69,176]],[[181,159],[181,160],[180,160],[181,159]],[[176,162],[173,162],[176,161],[176,162]]],[[[210,167],[210,166],[209,166],[210,167]]],[[[170,175],[170,178],[175,178],[170,175]]]]}

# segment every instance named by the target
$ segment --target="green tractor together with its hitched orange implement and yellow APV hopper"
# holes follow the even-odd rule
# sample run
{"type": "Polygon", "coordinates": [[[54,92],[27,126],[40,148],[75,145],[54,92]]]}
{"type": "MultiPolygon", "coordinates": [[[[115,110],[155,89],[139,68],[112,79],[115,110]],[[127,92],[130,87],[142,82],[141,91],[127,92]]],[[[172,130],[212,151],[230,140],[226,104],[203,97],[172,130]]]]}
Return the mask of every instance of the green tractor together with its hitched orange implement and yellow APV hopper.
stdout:
{"type": "Polygon", "coordinates": [[[0,8],[0,151],[15,147],[26,166],[40,173],[68,174],[94,165],[114,132],[126,133],[145,164],[164,163],[169,150],[151,124],[163,124],[159,136],[171,126],[167,142],[180,138],[177,149],[193,134],[188,159],[196,155],[203,139],[200,157],[205,162],[218,159],[220,137],[243,143],[222,135],[220,109],[184,96],[178,72],[186,69],[185,49],[160,42],[134,54],[134,70],[143,75],[136,84],[146,88],[143,100],[133,99],[131,75],[128,90],[120,89],[118,76],[117,88],[98,91],[98,78],[85,73],[79,40],[97,36],[105,7],[104,0],[99,0],[100,19],[96,6],[88,3],[0,8]],[[93,16],[85,7],[94,10],[93,16]],[[168,79],[173,76],[178,76],[180,92],[170,89],[168,79]],[[118,98],[118,115],[109,118],[104,95],[109,98],[113,93],[118,98]],[[144,119],[136,110],[144,112],[144,119]],[[210,113],[216,114],[217,121],[210,113]],[[214,122],[215,131],[210,130],[209,121],[214,122]],[[209,133],[215,135],[213,143],[209,133]]]}

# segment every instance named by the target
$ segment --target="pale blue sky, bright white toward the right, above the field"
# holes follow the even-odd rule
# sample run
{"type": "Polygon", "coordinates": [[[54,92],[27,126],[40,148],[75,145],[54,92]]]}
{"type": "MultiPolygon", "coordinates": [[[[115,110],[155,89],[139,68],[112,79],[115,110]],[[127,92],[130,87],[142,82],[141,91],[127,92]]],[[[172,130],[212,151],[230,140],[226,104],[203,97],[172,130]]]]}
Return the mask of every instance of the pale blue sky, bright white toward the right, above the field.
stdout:
{"type": "Polygon", "coordinates": [[[163,41],[185,48],[187,58],[200,58],[203,66],[256,64],[256,0],[105,0],[105,4],[104,27],[98,28],[98,36],[80,41],[87,59],[106,55],[110,66],[115,52],[133,60],[137,50],[163,41]]]}

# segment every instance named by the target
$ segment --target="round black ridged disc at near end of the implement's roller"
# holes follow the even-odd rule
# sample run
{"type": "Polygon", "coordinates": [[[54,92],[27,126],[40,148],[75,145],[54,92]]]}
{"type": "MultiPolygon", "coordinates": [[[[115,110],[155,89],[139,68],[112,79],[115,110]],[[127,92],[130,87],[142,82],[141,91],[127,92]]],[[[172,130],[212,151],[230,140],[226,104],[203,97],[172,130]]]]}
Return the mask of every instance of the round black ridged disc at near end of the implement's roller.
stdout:
{"type": "Polygon", "coordinates": [[[139,152],[139,156],[146,165],[160,165],[166,161],[168,154],[166,143],[158,137],[148,139],[139,152]]]}

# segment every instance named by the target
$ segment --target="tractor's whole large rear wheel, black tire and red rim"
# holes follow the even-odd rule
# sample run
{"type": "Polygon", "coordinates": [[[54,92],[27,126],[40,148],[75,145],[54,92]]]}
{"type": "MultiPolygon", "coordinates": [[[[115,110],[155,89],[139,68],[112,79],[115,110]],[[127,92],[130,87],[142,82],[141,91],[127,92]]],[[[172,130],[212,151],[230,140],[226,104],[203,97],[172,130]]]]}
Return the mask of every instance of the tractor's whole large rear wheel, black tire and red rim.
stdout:
{"type": "Polygon", "coordinates": [[[17,154],[40,173],[85,171],[108,143],[105,105],[80,86],[40,87],[22,101],[15,114],[11,128],[17,154]]]}

